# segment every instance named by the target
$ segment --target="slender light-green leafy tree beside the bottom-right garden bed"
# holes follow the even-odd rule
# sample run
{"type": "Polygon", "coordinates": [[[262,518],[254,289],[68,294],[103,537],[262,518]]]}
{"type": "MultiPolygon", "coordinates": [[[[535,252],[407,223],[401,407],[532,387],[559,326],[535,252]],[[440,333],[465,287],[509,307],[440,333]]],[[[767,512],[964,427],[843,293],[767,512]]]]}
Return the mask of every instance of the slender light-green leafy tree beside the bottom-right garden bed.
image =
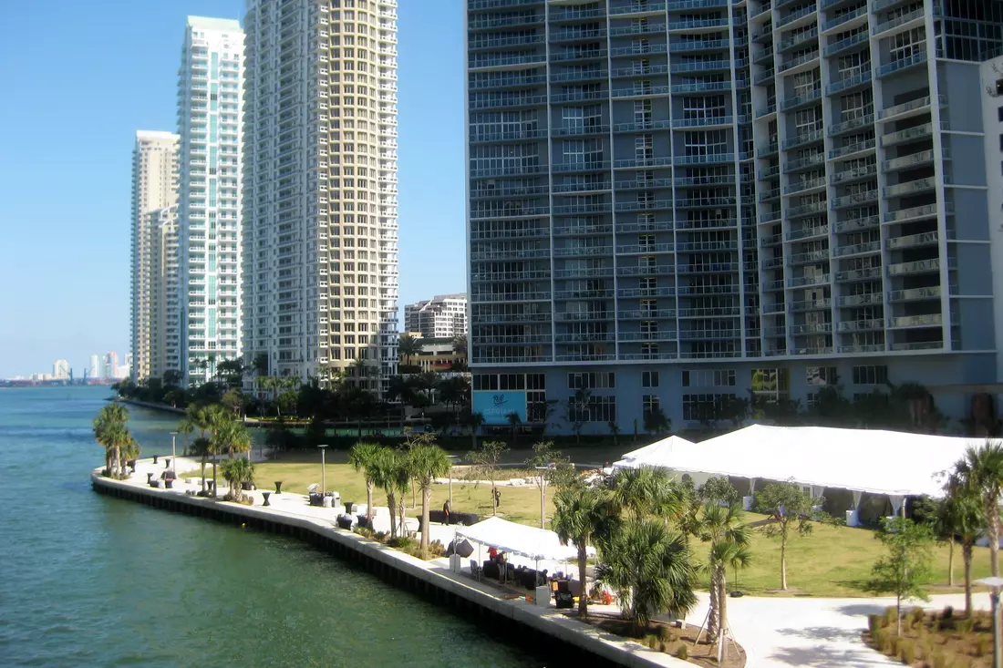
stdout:
{"type": "Polygon", "coordinates": [[[871,569],[866,590],[895,594],[896,633],[902,635],[902,600],[930,600],[924,584],[930,578],[934,537],[928,525],[905,518],[886,518],[882,526],[884,531],[875,538],[885,545],[888,554],[871,569]]]}

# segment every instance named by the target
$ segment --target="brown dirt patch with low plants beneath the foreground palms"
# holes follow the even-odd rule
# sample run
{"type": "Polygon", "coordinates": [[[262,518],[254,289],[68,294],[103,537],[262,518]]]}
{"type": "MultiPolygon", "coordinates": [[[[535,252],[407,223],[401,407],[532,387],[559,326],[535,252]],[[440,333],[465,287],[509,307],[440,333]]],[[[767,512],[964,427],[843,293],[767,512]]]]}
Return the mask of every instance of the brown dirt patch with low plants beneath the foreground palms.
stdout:
{"type": "Polygon", "coordinates": [[[590,614],[589,618],[585,620],[581,620],[574,612],[568,612],[565,615],[584,621],[608,633],[621,636],[624,640],[633,640],[655,651],[662,651],[680,659],[685,658],[686,661],[705,668],[743,668],[745,666],[745,650],[738,643],[731,641],[726,645],[727,656],[725,656],[724,661],[718,663],[716,645],[710,645],[706,642],[696,644],[694,642],[700,631],[694,626],[677,629],[666,622],[652,621],[638,637],[634,635],[630,622],[615,615],[590,614]],[[682,647],[685,647],[684,656],[681,656],[683,650],[680,648],[682,647]]]}

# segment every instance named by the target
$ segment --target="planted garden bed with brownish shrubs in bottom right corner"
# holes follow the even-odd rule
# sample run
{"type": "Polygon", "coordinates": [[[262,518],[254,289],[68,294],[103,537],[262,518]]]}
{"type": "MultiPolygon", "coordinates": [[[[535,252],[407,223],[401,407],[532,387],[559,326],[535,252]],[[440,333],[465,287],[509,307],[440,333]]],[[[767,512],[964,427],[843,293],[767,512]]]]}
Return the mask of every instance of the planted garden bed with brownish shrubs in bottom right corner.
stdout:
{"type": "Polygon", "coordinates": [[[950,606],[943,611],[913,608],[904,613],[896,633],[895,608],[869,617],[864,642],[908,666],[989,668],[993,664],[992,617],[974,611],[969,617],[950,606]]]}

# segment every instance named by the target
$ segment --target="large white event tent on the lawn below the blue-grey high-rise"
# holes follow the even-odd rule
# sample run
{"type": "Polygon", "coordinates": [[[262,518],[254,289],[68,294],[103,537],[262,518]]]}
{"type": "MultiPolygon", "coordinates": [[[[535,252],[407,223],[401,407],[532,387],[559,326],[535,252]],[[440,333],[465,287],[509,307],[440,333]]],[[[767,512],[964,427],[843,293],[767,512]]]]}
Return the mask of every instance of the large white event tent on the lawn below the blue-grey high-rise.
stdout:
{"type": "MultiPolygon", "coordinates": [[[[898,514],[906,496],[943,493],[941,471],[970,445],[985,441],[931,434],[832,427],[777,427],[753,424],[697,444],[669,439],[653,443],[615,466],[659,466],[696,479],[713,475],[749,480],[796,482],[813,493],[825,488],[853,492],[854,511],[865,492],[887,495],[898,514]]],[[[680,439],[682,440],[682,439],[680,439]]]]}

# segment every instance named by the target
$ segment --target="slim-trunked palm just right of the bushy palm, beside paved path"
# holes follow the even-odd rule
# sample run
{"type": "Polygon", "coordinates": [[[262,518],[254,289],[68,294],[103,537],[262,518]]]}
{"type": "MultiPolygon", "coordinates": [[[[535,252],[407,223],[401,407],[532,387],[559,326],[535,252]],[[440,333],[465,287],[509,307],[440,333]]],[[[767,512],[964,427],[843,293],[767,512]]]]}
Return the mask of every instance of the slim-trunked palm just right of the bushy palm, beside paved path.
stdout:
{"type": "Polygon", "coordinates": [[[720,635],[727,627],[727,567],[748,565],[751,561],[749,545],[752,530],[742,522],[741,509],[732,504],[719,506],[706,504],[697,520],[696,536],[710,544],[707,570],[710,572],[710,617],[707,636],[711,642],[720,642],[720,635]]]}

